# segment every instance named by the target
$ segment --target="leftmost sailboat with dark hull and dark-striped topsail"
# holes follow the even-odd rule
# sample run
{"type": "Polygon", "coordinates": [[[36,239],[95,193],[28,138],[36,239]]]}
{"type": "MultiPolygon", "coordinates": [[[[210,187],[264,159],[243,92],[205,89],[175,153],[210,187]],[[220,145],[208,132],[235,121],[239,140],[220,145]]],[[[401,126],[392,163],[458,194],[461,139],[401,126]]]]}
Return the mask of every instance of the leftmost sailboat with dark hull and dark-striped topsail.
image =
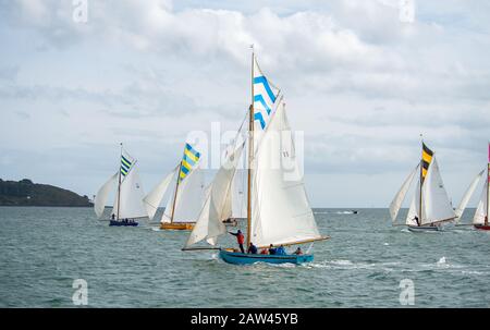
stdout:
{"type": "Polygon", "coordinates": [[[138,222],[134,219],[148,216],[143,205],[144,191],[136,164],[137,160],[131,157],[121,144],[121,167],[100,187],[94,201],[97,218],[101,219],[109,194],[117,185],[109,225],[135,227],[138,222]]]}

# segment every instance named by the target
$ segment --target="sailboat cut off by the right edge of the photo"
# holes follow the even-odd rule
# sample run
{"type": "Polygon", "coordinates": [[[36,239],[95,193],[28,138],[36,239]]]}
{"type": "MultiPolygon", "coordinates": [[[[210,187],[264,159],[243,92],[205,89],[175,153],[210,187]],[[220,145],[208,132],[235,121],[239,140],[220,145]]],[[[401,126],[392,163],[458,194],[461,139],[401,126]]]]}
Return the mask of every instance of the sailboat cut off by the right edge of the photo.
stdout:
{"type": "MultiPolygon", "coordinates": [[[[457,222],[460,222],[463,212],[471,198],[479,181],[485,174],[485,170],[478,173],[478,175],[473,180],[471,184],[467,188],[463,199],[461,200],[460,207],[456,209],[457,222]]],[[[475,216],[473,217],[473,225],[478,230],[490,230],[489,220],[489,182],[490,182],[490,144],[488,145],[488,163],[487,163],[487,180],[485,181],[483,188],[480,194],[480,199],[478,201],[478,207],[476,209],[475,216]]]]}

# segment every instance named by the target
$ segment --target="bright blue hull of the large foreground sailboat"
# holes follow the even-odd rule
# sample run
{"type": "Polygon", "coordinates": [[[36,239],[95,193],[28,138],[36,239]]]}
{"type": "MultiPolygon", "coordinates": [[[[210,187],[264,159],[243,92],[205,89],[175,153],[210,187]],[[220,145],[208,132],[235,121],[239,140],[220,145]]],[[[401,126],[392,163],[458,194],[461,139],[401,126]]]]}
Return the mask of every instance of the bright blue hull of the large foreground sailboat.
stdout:
{"type": "Polygon", "coordinates": [[[255,262],[267,264],[304,264],[311,262],[313,255],[252,255],[236,252],[228,252],[220,249],[220,258],[228,264],[233,265],[250,265],[255,262]]]}

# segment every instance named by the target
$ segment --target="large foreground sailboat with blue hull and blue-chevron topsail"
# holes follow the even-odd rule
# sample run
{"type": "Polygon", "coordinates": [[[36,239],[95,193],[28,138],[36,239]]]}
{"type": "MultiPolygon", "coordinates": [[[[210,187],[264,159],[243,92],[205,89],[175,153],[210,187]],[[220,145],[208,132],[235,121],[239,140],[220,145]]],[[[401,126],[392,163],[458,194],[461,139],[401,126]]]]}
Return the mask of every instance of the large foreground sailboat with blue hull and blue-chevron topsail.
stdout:
{"type": "MultiPolygon", "coordinates": [[[[229,264],[254,262],[302,264],[314,259],[313,254],[245,254],[233,248],[194,247],[200,241],[212,246],[226,233],[223,213],[230,209],[228,198],[238,164],[248,140],[247,157],[247,231],[246,245],[258,248],[291,246],[327,240],[317,228],[295,156],[294,140],[280,90],[262,74],[252,53],[252,105],[245,140],[236,139],[211,183],[203,211],[183,250],[219,249],[229,264]],[[280,137],[278,139],[278,137],[280,137]],[[292,164],[287,170],[284,162],[292,164]],[[289,174],[295,174],[290,175],[289,174]]],[[[309,250],[309,249],[308,249],[309,250]]]]}

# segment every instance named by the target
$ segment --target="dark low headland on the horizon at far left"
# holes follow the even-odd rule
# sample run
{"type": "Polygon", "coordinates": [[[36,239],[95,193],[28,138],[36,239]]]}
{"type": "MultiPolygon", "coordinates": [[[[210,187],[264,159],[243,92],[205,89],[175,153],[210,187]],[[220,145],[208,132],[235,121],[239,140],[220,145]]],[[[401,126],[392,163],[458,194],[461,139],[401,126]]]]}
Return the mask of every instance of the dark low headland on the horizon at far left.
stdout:
{"type": "Polygon", "coordinates": [[[87,196],[28,179],[3,181],[0,179],[0,206],[90,207],[87,196]]]}

